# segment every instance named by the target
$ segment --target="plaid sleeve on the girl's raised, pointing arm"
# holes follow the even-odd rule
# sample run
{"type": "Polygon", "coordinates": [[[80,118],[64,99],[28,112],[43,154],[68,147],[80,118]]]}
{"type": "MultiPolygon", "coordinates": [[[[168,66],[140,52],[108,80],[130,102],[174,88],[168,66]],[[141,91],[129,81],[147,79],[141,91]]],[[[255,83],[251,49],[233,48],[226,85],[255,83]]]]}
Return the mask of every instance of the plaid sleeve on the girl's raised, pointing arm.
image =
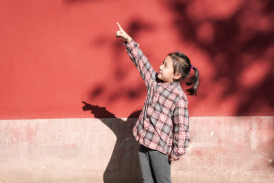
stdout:
{"type": "Polygon", "coordinates": [[[142,77],[142,80],[145,81],[147,88],[149,88],[151,82],[155,81],[156,72],[153,70],[147,57],[140,50],[139,44],[137,42],[132,40],[128,43],[125,42],[124,45],[127,48],[127,54],[129,55],[129,58],[132,60],[132,62],[134,62],[142,77]]]}

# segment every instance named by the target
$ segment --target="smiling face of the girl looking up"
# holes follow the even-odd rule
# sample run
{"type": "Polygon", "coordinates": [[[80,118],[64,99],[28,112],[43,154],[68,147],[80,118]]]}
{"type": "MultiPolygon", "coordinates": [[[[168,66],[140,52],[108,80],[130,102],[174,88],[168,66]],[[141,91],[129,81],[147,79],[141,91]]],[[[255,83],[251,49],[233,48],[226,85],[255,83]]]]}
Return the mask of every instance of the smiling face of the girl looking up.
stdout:
{"type": "Polygon", "coordinates": [[[160,65],[158,78],[166,83],[171,83],[175,79],[173,61],[170,56],[166,56],[160,65]]]}

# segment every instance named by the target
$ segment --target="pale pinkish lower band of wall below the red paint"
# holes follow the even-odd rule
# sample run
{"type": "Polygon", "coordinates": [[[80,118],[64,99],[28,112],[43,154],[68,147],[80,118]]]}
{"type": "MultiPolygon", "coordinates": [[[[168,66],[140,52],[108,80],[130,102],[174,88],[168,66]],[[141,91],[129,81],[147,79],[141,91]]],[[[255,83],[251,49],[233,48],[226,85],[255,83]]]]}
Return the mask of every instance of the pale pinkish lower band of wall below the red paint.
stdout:
{"type": "MultiPolygon", "coordinates": [[[[190,119],[173,182],[272,182],[274,117],[190,119]]],[[[0,121],[0,182],[142,182],[136,119],[0,121]]]]}

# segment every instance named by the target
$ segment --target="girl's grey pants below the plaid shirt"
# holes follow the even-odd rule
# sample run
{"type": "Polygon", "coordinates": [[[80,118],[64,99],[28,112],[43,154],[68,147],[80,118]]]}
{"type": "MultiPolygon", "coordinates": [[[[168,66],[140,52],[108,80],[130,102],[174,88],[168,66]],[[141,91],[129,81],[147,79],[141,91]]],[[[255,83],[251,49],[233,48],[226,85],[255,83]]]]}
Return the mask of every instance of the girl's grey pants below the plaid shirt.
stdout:
{"type": "Polygon", "coordinates": [[[171,162],[168,155],[140,145],[139,161],[143,182],[171,182],[171,162]]]}

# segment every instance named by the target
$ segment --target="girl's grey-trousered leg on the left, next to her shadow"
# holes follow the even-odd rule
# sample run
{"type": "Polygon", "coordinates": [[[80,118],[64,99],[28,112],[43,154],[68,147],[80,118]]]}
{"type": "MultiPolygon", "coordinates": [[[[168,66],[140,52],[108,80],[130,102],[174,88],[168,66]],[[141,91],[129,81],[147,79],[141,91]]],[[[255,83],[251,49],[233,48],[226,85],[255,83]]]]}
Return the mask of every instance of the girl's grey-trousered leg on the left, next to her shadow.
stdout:
{"type": "Polygon", "coordinates": [[[151,162],[149,160],[149,148],[140,145],[139,147],[139,161],[142,171],[142,181],[145,183],[154,183],[155,177],[151,169],[151,162]]]}

